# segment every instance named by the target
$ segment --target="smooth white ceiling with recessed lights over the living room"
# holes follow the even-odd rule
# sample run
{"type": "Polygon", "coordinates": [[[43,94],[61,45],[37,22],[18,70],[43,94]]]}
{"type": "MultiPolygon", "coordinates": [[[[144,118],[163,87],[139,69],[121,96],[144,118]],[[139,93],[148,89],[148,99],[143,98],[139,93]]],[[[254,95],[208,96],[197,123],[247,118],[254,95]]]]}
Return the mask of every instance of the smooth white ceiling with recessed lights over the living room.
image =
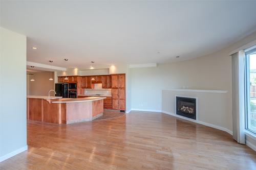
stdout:
{"type": "Polygon", "coordinates": [[[27,61],[60,67],[184,60],[256,31],[256,1],[1,3],[1,27],[28,36],[27,61]]]}

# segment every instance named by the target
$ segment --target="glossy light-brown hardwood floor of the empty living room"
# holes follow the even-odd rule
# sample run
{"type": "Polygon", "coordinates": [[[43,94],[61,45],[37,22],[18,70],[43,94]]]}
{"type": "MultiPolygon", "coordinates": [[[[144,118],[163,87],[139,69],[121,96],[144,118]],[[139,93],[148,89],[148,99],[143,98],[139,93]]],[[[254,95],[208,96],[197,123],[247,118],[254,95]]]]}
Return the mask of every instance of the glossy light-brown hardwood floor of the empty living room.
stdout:
{"type": "Polygon", "coordinates": [[[256,169],[256,152],[226,132],[161,113],[29,122],[28,145],[0,169],[256,169]]]}

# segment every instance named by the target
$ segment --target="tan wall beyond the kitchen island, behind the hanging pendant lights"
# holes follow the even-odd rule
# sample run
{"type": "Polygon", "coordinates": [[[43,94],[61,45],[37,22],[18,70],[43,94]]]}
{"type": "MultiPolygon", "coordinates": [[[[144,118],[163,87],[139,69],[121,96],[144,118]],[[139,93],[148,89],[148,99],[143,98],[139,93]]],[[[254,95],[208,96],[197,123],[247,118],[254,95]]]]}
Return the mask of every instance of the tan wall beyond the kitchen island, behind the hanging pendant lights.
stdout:
{"type": "MultiPolygon", "coordinates": [[[[48,91],[54,89],[54,81],[49,81],[50,72],[34,72],[33,74],[33,78],[35,79],[35,81],[28,81],[29,95],[48,95],[48,91]]],[[[51,95],[53,94],[51,93],[51,95]]]]}

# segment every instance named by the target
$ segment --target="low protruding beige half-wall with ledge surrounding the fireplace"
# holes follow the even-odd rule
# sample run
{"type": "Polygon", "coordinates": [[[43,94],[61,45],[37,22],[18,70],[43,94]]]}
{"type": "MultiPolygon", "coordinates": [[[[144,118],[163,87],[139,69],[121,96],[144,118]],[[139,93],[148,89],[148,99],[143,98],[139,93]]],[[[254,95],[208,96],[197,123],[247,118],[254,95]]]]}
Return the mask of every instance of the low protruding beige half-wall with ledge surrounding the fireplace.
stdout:
{"type": "Polygon", "coordinates": [[[162,90],[162,112],[175,115],[175,95],[196,97],[198,99],[197,123],[224,130],[232,134],[229,94],[219,92],[195,92],[162,90]]]}

